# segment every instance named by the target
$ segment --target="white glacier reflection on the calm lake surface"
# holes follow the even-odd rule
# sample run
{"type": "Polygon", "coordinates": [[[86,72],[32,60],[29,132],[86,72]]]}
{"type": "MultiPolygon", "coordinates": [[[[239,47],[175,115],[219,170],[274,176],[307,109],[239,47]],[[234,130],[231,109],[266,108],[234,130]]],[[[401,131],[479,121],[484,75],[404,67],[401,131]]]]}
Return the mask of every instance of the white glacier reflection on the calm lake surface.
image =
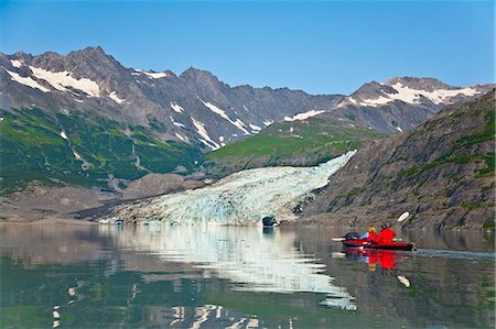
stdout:
{"type": "Polygon", "coordinates": [[[276,229],[265,234],[255,227],[159,224],[122,230],[100,226],[99,230],[114,237],[119,248],[191,264],[204,277],[229,279],[234,290],[323,294],[324,306],[356,309],[354,297],[324,273],[325,265],[294,246],[293,233],[276,229]]]}

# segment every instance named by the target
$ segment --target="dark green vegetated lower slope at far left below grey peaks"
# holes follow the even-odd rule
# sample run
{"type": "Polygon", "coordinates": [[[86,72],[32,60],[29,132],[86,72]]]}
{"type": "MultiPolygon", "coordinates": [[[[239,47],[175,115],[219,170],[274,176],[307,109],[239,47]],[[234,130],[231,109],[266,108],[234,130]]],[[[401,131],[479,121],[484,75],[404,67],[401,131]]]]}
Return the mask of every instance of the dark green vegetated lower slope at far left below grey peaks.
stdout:
{"type": "Polygon", "coordinates": [[[173,172],[179,165],[192,171],[201,157],[192,145],[162,142],[142,127],[121,127],[104,118],[51,116],[40,109],[0,110],[0,114],[2,193],[32,180],[105,187],[109,175],[137,179],[150,172],[173,172]]]}

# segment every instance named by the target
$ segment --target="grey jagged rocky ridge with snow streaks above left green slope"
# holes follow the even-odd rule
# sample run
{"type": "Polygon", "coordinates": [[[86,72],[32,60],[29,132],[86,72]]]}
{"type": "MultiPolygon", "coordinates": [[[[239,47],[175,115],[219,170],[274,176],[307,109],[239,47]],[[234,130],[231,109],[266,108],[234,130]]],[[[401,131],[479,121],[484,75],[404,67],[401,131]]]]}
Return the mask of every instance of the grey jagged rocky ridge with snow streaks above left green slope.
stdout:
{"type": "Polygon", "coordinates": [[[331,109],[342,96],[287,88],[230,88],[209,72],[126,68],[101,47],[62,56],[0,55],[0,107],[90,113],[142,125],[161,139],[220,147],[285,116],[331,109]]]}

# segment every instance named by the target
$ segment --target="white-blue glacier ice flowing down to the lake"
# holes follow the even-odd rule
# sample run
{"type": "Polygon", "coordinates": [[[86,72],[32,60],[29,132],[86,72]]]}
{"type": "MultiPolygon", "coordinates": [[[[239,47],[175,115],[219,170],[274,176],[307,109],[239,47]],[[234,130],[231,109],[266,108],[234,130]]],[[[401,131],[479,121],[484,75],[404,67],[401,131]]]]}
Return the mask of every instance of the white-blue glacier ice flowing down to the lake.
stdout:
{"type": "Polygon", "coordinates": [[[268,215],[294,217],[292,209],[355,154],[348,152],[315,167],[268,167],[229,175],[212,186],[165,195],[117,208],[100,222],[162,221],[170,224],[257,224],[268,215]]]}

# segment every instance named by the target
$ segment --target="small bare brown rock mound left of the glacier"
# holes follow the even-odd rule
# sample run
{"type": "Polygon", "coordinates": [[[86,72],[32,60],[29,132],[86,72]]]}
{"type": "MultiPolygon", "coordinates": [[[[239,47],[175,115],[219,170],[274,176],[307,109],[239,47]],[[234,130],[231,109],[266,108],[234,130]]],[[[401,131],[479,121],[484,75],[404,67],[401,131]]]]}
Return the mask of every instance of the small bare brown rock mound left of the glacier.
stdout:
{"type": "Polygon", "coordinates": [[[184,177],[175,174],[148,174],[131,182],[125,189],[122,199],[140,199],[183,190],[184,183],[184,177]]]}

